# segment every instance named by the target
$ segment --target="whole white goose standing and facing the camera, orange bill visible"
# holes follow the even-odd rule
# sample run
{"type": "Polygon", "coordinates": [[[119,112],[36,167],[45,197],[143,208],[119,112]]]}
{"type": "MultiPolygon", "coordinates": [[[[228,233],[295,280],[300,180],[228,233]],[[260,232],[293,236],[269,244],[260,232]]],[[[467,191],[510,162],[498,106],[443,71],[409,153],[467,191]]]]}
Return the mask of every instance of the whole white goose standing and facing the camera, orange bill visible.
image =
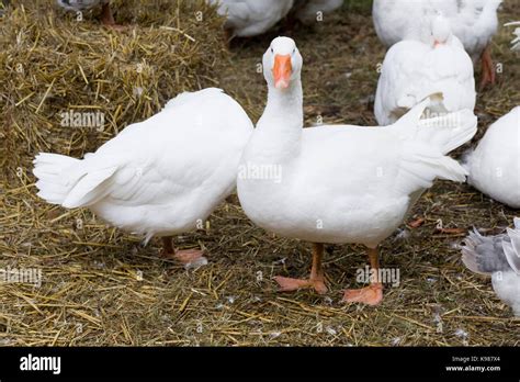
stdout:
{"type": "MultiPolygon", "coordinates": [[[[377,246],[402,224],[410,194],[436,178],[465,179],[445,154],[472,138],[476,117],[466,110],[450,114],[449,126],[440,127],[440,119],[420,122],[425,101],[387,127],[303,128],[302,65],[287,37],[275,38],[263,55],[268,103],[244,150],[237,190],[256,224],[314,244],[310,279],[279,277],[282,291],[324,293],[323,244],[363,244],[377,269],[377,246]]],[[[377,304],[382,296],[375,280],[347,291],[344,300],[377,304]]]]}

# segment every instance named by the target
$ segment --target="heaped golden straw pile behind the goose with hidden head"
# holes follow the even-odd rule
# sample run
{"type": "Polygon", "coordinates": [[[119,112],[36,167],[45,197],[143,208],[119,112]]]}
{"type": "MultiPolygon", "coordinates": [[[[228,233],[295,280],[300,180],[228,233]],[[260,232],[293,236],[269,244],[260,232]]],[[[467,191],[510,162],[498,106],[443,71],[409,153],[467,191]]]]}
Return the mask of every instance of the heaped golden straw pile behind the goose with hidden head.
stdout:
{"type": "Polygon", "coordinates": [[[52,0],[14,2],[0,22],[9,154],[0,165],[11,176],[38,150],[81,156],[177,93],[215,85],[223,20],[203,0],[112,1],[112,9],[126,30],[103,27],[99,9],[79,18],[52,0]],[[63,113],[86,121],[89,112],[102,126],[64,126],[63,113]]]}

